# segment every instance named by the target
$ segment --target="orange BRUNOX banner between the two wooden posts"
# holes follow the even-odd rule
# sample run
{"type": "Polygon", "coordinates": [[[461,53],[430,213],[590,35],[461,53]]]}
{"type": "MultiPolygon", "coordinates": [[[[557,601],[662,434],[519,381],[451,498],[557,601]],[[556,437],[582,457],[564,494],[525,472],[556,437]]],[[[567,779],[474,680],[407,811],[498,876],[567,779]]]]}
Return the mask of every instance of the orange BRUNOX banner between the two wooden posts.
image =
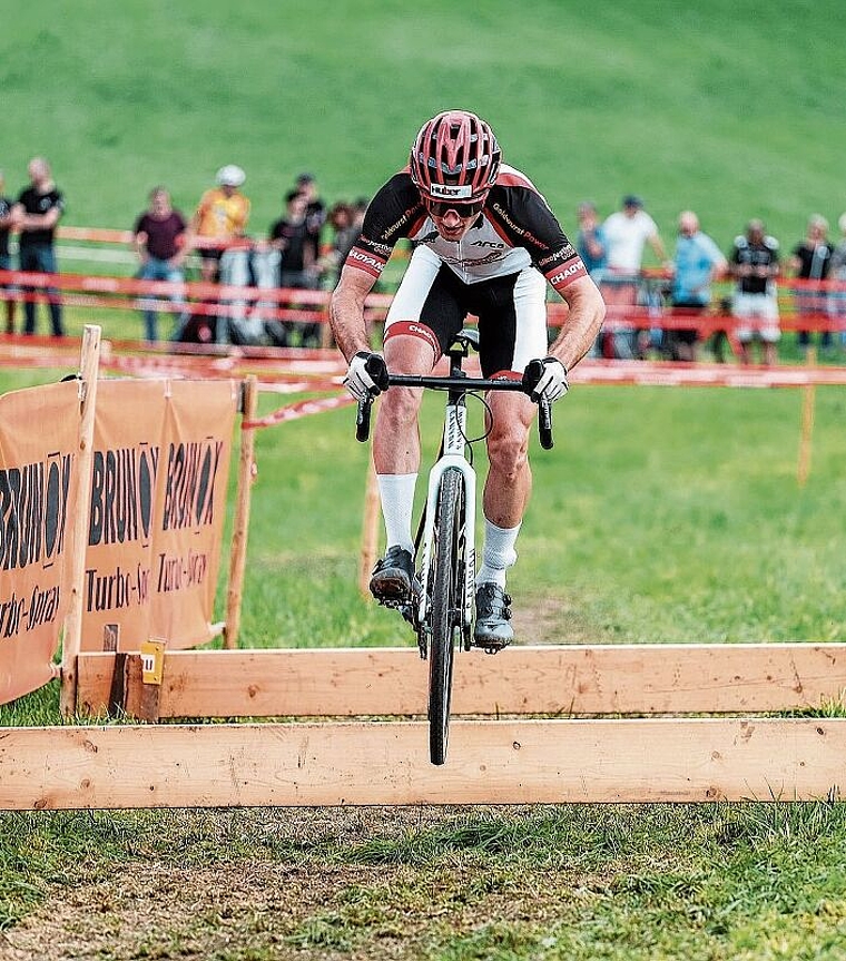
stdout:
{"type": "Polygon", "coordinates": [[[82,650],[212,636],[234,381],[101,381],[82,650]]]}

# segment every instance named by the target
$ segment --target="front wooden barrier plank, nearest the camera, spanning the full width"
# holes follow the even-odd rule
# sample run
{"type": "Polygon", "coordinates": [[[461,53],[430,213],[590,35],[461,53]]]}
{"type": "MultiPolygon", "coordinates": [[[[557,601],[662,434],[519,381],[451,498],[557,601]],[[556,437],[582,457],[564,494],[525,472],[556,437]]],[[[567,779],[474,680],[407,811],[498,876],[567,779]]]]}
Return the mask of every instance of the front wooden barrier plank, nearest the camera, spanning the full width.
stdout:
{"type": "Polygon", "coordinates": [[[0,729],[0,808],[808,801],[846,719],[459,720],[0,729]]]}

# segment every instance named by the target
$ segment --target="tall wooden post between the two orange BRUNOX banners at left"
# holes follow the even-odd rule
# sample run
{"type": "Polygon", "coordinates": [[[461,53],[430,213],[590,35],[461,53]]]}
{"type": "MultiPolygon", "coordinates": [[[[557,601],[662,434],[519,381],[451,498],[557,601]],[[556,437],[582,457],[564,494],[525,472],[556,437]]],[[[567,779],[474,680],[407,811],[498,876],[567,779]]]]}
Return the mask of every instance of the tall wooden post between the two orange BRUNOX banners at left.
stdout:
{"type": "Polygon", "coordinates": [[[97,410],[97,376],[100,366],[101,328],[86,324],[82,332],[80,360],[80,398],[82,419],[79,425],[77,458],[76,523],[71,540],[70,604],[65,618],[61,651],[61,713],[71,717],[77,709],[77,658],[82,644],[82,598],[86,573],[86,545],[91,509],[91,465],[94,461],[94,428],[97,410]]]}

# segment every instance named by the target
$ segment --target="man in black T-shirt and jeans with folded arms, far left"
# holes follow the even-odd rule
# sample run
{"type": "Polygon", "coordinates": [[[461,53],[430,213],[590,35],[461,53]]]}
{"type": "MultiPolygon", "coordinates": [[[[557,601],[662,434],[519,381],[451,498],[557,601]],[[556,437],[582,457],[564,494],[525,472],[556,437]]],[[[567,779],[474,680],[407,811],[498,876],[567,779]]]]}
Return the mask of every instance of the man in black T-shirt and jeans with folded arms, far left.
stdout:
{"type": "MultiPolygon", "coordinates": [[[[12,216],[20,226],[18,238],[18,259],[21,271],[30,273],[57,273],[53,235],[65,210],[65,198],[50,173],[50,165],[43,157],[33,157],[27,168],[30,186],[21,190],[12,207],[12,216]]],[[[24,287],[23,333],[36,332],[35,291],[24,287]]],[[[48,287],[47,303],[50,308],[50,323],[56,337],[65,336],[61,317],[61,302],[56,287],[48,287]]]]}

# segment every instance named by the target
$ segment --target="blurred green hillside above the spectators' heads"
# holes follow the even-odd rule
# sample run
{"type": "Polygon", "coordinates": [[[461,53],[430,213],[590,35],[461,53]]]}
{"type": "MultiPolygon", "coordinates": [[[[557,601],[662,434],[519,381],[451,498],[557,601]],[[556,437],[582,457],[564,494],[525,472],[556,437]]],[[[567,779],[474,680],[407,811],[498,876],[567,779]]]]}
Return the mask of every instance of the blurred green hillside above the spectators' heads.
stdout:
{"type": "Polygon", "coordinates": [[[190,209],[235,161],[263,233],[301,170],[328,199],[368,195],[463,105],[565,225],[582,197],[610,212],[636,190],[667,236],[692,206],[721,246],[752,215],[791,244],[846,208],[838,23],[836,0],[35,0],[0,36],[0,167],[17,190],[48,155],[67,222],[118,227],[153,184],[190,209]]]}

